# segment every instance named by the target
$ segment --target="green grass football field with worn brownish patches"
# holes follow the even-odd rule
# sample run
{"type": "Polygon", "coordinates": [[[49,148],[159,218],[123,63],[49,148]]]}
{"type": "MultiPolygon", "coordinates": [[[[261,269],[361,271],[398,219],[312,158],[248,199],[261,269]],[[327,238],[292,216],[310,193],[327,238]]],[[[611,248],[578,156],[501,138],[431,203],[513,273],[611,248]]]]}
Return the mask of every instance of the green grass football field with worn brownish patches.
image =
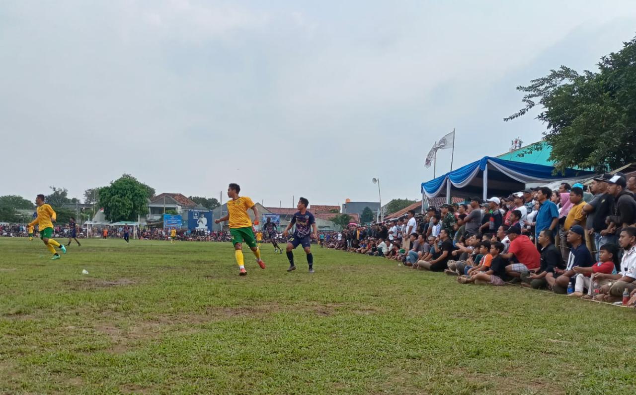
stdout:
{"type": "Polygon", "coordinates": [[[636,392],[633,309],[318,248],[247,277],[229,243],[0,253],[0,393],[636,392]]]}

